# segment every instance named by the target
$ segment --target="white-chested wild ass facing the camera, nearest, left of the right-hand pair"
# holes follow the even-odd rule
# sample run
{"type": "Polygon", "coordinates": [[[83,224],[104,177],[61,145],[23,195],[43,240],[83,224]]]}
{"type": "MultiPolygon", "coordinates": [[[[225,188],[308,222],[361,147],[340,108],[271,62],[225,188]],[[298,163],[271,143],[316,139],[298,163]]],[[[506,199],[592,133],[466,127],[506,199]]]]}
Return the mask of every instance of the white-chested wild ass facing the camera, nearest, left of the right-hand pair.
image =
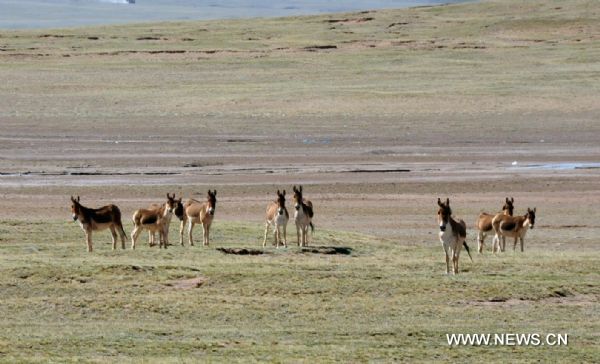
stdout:
{"type": "Polygon", "coordinates": [[[440,227],[440,241],[444,246],[444,252],[446,252],[446,274],[450,274],[450,258],[452,257],[452,273],[458,274],[458,257],[460,256],[460,250],[462,246],[465,247],[469,258],[471,252],[469,246],[465,242],[467,238],[467,225],[463,220],[454,220],[452,218],[452,209],[450,209],[450,199],[446,199],[444,204],[442,200],[438,198],[438,225],[440,227]],[[450,228],[448,228],[450,227],[450,228]]]}

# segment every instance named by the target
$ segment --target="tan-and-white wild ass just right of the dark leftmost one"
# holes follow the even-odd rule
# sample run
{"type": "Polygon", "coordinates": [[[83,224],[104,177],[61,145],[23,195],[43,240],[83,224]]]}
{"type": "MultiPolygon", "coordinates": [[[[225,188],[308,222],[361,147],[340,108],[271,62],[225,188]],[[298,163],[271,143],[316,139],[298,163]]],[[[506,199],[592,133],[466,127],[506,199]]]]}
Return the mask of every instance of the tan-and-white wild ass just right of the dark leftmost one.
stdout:
{"type": "Polygon", "coordinates": [[[131,232],[131,249],[135,249],[135,243],[143,229],[147,229],[152,234],[151,245],[154,244],[154,236],[158,232],[158,247],[165,249],[169,242],[168,229],[171,223],[171,216],[176,207],[175,194],[170,196],[167,193],[167,202],[160,206],[150,209],[139,209],[133,213],[133,231],[131,232]]]}

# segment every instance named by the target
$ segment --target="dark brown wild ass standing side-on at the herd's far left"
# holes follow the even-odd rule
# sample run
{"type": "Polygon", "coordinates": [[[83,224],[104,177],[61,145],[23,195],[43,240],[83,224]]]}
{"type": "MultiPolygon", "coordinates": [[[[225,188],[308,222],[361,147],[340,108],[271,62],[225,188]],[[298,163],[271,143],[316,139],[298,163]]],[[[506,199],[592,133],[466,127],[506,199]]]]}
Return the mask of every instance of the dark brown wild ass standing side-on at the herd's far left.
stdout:
{"type": "Polygon", "coordinates": [[[71,213],[73,221],[78,221],[85,232],[85,240],[88,245],[88,252],[92,252],[92,231],[110,229],[113,237],[113,250],[117,249],[117,233],[121,236],[121,247],[125,249],[125,239],[127,234],[123,230],[121,222],[121,211],[115,205],[107,205],[98,209],[91,209],[79,203],[77,199],[71,196],[71,213]]]}

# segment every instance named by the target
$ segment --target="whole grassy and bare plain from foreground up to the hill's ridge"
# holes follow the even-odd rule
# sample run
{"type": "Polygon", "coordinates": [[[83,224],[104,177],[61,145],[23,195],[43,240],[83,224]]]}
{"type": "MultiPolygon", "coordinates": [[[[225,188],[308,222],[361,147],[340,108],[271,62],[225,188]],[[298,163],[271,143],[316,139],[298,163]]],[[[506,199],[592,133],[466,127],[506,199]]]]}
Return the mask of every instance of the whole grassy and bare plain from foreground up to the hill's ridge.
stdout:
{"type": "Polygon", "coordinates": [[[600,362],[600,169],[543,167],[600,160],[598,18],[508,0],[0,32],[0,361],[600,362]],[[293,184],[313,245],[350,254],[215,249],[259,248],[293,184]],[[70,195],[130,232],[135,209],[207,188],[208,248],[113,252],[104,232],[88,254],[67,222],[70,195]],[[446,196],[473,251],[479,212],[537,207],[525,253],[443,274],[446,196]]]}

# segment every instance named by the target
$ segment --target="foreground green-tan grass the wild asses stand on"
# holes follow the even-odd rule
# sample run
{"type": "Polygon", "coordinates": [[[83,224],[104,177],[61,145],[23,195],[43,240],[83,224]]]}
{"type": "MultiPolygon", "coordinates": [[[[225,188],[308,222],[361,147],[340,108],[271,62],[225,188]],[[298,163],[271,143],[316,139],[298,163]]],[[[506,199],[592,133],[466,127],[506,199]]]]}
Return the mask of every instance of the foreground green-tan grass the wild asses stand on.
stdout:
{"type": "MultiPolygon", "coordinates": [[[[220,223],[214,244],[257,247],[257,225],[220,223]]],[[[439,247],[320,231],[350,255],[214,247],[84,252],[72,224],[3,221],[3,361],[593,362],[597,256],[538,249],[463,259],[439,247]],[[200,287],[177,282],[202,277],[200,287]],[[565,347],[450,347],[446,333],[569,333],[565,347]]],[[[175,237],[172,235],[172,239],[175,237]]]]}

